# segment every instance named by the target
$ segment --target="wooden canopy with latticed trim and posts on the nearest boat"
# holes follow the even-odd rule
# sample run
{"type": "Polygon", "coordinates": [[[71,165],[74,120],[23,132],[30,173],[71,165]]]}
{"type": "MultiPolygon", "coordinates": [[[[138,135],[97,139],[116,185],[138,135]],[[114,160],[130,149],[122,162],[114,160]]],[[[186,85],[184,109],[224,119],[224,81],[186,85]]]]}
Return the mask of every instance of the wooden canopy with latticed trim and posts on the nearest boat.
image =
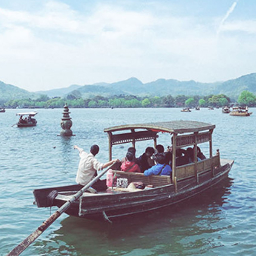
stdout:
{"type": "MultiPolygon", "coordinates": [[[[180,120],[147,124],[125,124],[106,128],[104,132],[108,133],[109,160],[112,159],[112,146],[114,145],[132,143],[135,148],[136,141],[154,140],[156,148],[159,132],[167,132],[172,135],[174,152],[177,148],[210,142],[210,157],[212,157],[212,132],[214,128],[215,124],[180,120]]],[[[175,156],[175,153],[173,155],[175,156]]]]}

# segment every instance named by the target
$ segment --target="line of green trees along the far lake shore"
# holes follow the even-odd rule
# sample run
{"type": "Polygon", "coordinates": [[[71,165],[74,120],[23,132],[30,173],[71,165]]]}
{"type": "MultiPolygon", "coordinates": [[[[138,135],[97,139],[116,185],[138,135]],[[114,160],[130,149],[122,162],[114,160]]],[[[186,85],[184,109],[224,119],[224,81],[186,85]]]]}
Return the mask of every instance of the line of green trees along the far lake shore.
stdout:
{"type": "Polygon", "coordinates": [[[95,96],[91,99],[76,98],[68,95],[66,98],[50,99],[41,95],[38,99],[9,100],[5,108],[63,108],[65,103],[71,108],[177,108],[177,107],[224,107],[239,104],[248,107],[256,106],[256,96],[249,91],[243,91],[237,102],[233,102],[224,94],[208,96],[166,95],[162,97],[139,97],[134,95],[116,95],[112,97],[95,96]]]}

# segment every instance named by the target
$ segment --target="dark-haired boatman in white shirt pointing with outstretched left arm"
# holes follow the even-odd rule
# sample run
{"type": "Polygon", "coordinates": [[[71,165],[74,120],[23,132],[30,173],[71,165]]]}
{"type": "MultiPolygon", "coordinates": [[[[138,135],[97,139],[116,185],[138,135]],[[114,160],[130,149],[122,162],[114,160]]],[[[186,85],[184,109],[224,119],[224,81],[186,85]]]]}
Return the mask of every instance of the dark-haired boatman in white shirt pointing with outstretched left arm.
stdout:
{"type": "MultiPolygon", "coordinates": [[[[102,170],[114,162],[119,162],[118,159],[109,161],[105,164],[100,163],[95,156],[99,153],[99,146],[92,145],[90,149],[90,153],[86,153],[83,148],[79,148],[78,146],[74,146],[74,149],[79,151],[80,162],[78,165],[78,170],[76,174],[76,182],[81,185],[81,188],[84,187],[88,182],[90,182],[94,177],[97,176],[97,171],[102,170]]],[[[93,185],[92,188],[97,191],[104,191],[108,187],[106,186],[105,180],[98,180],[93,185]]]]}

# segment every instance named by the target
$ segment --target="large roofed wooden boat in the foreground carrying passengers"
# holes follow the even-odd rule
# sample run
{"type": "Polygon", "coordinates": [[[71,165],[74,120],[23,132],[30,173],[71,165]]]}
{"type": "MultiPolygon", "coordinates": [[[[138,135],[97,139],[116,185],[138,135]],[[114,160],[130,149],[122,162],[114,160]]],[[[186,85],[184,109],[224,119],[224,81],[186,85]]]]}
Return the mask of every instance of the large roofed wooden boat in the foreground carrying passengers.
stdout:
{"type": "MultiPolygon", "coordinates": [[[[212,154],[212,132],[214,124],[196,121],[171,121],[149,124],[130,124],[110,127],[104,130],[109,138],[109,160],[112,159],[112,147],[124,143],[151,140],[157,145],[158,135],[162,132],[172,135],[172,175],[145,176],[143,173],[122,172],[116,168],[117,177],[126,178],[129,183],[143,182],[144,189],[108,188],[106,191],[90,193],[86,191],[65,211],[67,214],[88,219],[115,220],[127,215],[148,212],[179,204],[183,200],[204,193],[228,178],[233,160],[220,159],[219,150],[212,154]],[[177,166],[176,153],[180,148],[209,144],[209,157],[190,164],[177,166]]],[[[33,191],[38,207],[61,207],[76,192],[78,185],[41,188],[33,191]],[[54,195],[54,196],[52,196],[54,195]]]]}

